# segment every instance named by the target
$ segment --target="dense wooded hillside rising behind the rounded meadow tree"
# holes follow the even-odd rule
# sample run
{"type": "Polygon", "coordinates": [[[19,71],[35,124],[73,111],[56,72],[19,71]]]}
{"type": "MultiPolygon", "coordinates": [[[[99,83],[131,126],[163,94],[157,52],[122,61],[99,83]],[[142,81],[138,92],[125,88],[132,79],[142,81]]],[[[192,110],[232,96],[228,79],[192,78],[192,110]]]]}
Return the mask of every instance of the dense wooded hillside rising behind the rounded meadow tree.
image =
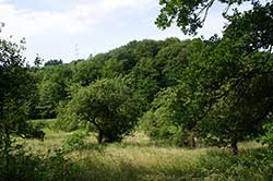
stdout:
{"type": "Polygon", "coordinates": [[[33,102],[33,119],[55,118],[59,102],[71,99],[71,88],[78,90],[74,85],[85,87],[99,79],[116,76],[131,80],[131,87],[142,96],[141,110],[145,110],[161,88],[178,83],[188,64],[190,44],[177,38],[134,40],[87,60],[39,69],[35,73],[38,93],[33,102]]]}

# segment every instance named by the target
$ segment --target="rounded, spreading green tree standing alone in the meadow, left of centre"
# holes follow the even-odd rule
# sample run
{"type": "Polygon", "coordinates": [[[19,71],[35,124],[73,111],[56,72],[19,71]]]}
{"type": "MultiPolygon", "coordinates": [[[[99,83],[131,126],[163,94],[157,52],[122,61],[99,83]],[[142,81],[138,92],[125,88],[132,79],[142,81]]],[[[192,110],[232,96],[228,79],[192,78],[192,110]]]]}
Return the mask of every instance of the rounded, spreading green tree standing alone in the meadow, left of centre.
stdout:
{"type": "MultiPolygon", "coordinates": [[[[59,118],[91,123],[98,143],[119,142],[138,122],[139,100],[122,79],[103,79],[72,96],[59,118]]],[[[63,121],[63,120],[60,120],[63,121]]]]}

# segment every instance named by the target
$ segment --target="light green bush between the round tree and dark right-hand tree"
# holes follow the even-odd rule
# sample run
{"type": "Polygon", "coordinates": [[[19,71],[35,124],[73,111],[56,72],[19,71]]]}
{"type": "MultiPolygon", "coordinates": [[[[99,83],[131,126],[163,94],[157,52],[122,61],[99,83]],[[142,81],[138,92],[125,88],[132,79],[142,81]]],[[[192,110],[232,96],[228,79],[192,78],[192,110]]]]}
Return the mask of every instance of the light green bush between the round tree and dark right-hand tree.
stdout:
{"type": "Polygon", "coordinates": [[[177,146],[194,148],[195,135],[190,131],[193,130],[194,123],[185,121],[187,116],[182,114],[178,97],[174,87],[158,93],[151,109],[142,117],[141,128],[155,141],[167,141],[177,146]]]}

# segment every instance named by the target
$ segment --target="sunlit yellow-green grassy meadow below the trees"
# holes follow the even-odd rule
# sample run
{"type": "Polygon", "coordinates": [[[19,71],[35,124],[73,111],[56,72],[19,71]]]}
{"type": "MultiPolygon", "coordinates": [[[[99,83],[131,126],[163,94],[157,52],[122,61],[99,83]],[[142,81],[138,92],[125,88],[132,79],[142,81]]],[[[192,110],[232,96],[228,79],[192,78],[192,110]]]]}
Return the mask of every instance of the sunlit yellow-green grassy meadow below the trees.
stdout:
{"type": "Polygon", "coordinates": [[[84,131],[67,133],[50,126],[44,130],[44,142],[20,142],[45,158],[61,150],[61,161],[54,167],[51,180],[272,180],[272,156],[268,157],[268,150],[254,142],[241,143],[240,154],[233,156],[227,149],[156,144],[142,132],[122,143],[98,145],[95,135],[84,131]],[[84,137],[84,142],[79,137],[84,137]],[[60,176],[54,176],[57,172],[60,176]]]}

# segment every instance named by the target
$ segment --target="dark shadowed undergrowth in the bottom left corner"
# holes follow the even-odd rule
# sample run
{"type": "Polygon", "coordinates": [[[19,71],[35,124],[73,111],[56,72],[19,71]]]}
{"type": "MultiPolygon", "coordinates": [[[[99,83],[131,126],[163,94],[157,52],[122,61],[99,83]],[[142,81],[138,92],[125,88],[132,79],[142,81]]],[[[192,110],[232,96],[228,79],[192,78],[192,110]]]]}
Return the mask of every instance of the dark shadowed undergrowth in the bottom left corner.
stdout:
{"type": "Polygon", "coordinates": [[[55,150],[54,155],[36,156],[27,154],[23,149],[10,155],[9,171],[3,165],[4,157],[0,156],[0,177],[3,180],[71,180],[71,171],[76,166],[64,158],[61,150],[55,150]]]}

